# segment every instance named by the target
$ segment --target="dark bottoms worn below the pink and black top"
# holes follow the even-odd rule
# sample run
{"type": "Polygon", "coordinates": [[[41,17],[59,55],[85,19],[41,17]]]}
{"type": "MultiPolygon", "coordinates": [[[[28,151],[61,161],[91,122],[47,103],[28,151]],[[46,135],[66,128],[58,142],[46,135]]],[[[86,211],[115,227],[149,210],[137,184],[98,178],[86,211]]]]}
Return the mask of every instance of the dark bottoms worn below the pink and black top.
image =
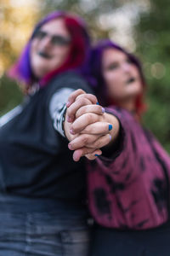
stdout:
{"type": "Polygon", "coordinates": [[[96,228],[89,256],[169,256],[170,223],[151,230],[96,228]]]}

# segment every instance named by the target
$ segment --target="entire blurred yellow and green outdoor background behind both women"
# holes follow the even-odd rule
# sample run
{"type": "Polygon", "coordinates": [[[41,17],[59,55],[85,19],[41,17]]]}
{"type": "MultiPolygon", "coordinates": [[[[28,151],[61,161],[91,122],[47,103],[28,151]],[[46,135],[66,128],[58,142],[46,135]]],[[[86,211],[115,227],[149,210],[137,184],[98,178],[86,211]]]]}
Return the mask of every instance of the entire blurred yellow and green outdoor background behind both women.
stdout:
{"type": "Polygon", "coordinates": [[[111,38],[138,55],[148,89],[144,125],[170,153],[170,5],[167,0],[1,0],[0,115],[22,101],[5,71],[26,44],[34,24],[54,9],[82,15],[94,42],[111,38]]]}

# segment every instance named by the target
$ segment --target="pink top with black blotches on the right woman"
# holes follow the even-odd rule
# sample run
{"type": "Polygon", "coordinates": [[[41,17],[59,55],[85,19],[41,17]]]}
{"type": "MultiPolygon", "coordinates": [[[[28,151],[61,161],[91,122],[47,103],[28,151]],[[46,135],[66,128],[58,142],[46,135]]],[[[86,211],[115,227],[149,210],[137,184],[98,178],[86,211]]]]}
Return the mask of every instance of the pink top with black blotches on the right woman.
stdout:
{"type": "MultiPolygon", "coordinates": [[[[155,137],[121,108],[119,143],[111,157],[88,164],[89,208],[105,227],[145,230],[167,222],[170,157],[155,137]]],[[[114,128],[113,128],[114,129],[114,128]]]]}

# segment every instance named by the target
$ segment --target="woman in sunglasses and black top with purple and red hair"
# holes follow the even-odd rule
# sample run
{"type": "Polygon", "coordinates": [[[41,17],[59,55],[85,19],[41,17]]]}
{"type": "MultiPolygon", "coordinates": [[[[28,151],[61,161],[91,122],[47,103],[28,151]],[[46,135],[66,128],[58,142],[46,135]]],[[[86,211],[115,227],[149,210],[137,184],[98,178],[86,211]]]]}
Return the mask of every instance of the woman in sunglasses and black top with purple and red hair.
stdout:
{"type": "MultiPolygon", "coordinates": [[[[77,89],[92,92],[81,75],[88,52],[83,21],[54,12],[37,24],[9,71],[25,85],[26,98],[0,119],[1,256],[88,253],[86,168],[78,160],[100,150],[91,137],[72,160],[65,138],[75,137],[65,119],[68,96],[77,89]]],[[[83,104],[90,102],[96,103],[95,96],[87,95],[83,104]]]]}

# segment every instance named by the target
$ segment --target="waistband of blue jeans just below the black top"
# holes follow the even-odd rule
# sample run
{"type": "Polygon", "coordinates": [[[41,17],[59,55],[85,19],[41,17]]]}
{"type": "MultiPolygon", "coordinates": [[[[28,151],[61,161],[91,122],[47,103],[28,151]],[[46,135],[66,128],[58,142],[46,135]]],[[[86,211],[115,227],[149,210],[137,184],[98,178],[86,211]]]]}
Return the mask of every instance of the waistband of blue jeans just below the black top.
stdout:
{"type": "Polygon", "coordinates": [[[0,194],[1,212],[59,212],[60,214],[87,214],[82,202],[62,201],[50,198],[33,198],[20,195],[0,194]]]}

